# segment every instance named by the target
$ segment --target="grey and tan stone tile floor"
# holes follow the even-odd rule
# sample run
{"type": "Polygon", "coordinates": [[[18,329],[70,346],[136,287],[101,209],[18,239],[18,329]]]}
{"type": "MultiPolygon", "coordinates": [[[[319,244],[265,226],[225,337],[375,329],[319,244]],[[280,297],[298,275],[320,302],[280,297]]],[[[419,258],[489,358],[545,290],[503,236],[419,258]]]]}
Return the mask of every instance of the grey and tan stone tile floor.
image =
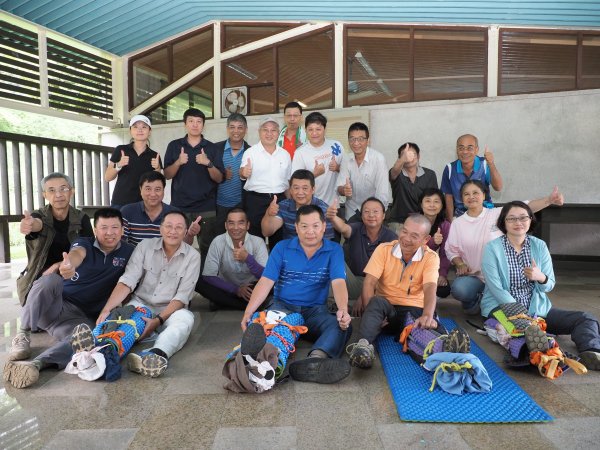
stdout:
{"type": "MultiPolygon", "coordinates": [[[[17,329],[20,306],[14,280],[22,262],[0,265],[0,367],[17,329]]],[[[558,271],[554,304],[600,316],[600,270],[558,271]]],[[[86,382],[53,370],[37,385],[0,385],[0,448],[49,449],[402,449],[600,447],[600,373],[567,373],[548,381],[533,371],[507,373],[555,420],[547,424],[456,425],[401,422],[377,363],[354,370],[337,385],[290,381],[265,395],[222,388],[225,354],[237,343],[240,312],[209,312],[193,301],[192,336],[157,379],[124,370],[115,383],[86,382]]],[[[466,324],[457,302],[442,300],[442,316],[454,318],[497,362],[500,347],[466,324]]],[[[356,327],[355,327],[356,329],[356,327]]],[[[48,342],[33,336],[34,352],[48,342]]],[[[559,339],[569,351],[567,337],[559,339]]],[[[300,343],[304,356],[308,345],[300,343]]]]}

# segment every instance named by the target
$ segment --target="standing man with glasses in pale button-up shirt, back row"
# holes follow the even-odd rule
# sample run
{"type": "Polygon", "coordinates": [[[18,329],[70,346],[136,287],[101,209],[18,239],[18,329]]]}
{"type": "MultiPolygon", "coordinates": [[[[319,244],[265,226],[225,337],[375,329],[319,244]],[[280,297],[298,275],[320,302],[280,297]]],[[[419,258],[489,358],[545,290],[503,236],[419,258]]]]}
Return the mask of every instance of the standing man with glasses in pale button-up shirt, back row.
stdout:
{"type": "Polygon", "coordinates": [[[389,194],[385,157],[369,147],[369,127],[362,122],[350,125],[348,143],[352,155],[342,160],[337,190],[346,197],[346,222],[351,223],[361,221],[366,199],[376,197],[387,208],[389,194]]]}

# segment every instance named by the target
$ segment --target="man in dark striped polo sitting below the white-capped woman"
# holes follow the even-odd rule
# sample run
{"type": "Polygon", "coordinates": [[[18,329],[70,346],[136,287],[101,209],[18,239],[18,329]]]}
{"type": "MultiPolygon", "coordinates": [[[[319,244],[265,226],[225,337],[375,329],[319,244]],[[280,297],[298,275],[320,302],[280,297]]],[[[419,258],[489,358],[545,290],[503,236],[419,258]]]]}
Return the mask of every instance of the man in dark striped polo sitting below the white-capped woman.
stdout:
{"type": "MultiPolygon", "coordinates": [[[[124,235],[123,239],[134,247],[142,239],[160,237],[160,224],[165,214],[171,211],[179,211],[174,206],[163,202],[165,197],[165,176],[157,171],[151,171],[140,177],[140,193],[142,201],[130,203],[121,208],[123,215],[124,235]]],[[[188,229],[184,241],[190,245],[194,236],[200,232],[201,217],[198,217],[188,229]]]]}

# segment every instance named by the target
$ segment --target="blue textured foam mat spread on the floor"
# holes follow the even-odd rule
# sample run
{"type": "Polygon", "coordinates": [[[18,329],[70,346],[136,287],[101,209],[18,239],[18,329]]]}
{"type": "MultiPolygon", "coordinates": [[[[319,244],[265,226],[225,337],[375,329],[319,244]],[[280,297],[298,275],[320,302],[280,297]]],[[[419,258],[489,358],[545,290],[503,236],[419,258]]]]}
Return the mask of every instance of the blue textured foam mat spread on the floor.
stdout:
{"type": "MultiPolygon", "coordinates": [[[[452,319],[442,319],[446,329],[456,328],[452,319]]],[[[400,419],[409,422],[514,423],[554,420],[494,361],[471,341],[492,380],[487,394],[452,395],[436,386],[429,392],[433,374],[423,369],[393,336],[381,335],[377,350],[400,419]]]]}

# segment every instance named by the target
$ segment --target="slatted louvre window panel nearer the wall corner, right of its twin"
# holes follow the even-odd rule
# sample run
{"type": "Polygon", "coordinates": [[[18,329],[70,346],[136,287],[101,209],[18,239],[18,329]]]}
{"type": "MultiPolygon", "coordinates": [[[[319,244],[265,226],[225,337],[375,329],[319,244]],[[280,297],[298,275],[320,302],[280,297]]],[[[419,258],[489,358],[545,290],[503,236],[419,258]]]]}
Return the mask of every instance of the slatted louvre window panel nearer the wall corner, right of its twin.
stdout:
{"type": "Polygon", "coordinates": [[[47,40],[48,99],[52,108],[112,119],[109,59],[47,40]]]}

